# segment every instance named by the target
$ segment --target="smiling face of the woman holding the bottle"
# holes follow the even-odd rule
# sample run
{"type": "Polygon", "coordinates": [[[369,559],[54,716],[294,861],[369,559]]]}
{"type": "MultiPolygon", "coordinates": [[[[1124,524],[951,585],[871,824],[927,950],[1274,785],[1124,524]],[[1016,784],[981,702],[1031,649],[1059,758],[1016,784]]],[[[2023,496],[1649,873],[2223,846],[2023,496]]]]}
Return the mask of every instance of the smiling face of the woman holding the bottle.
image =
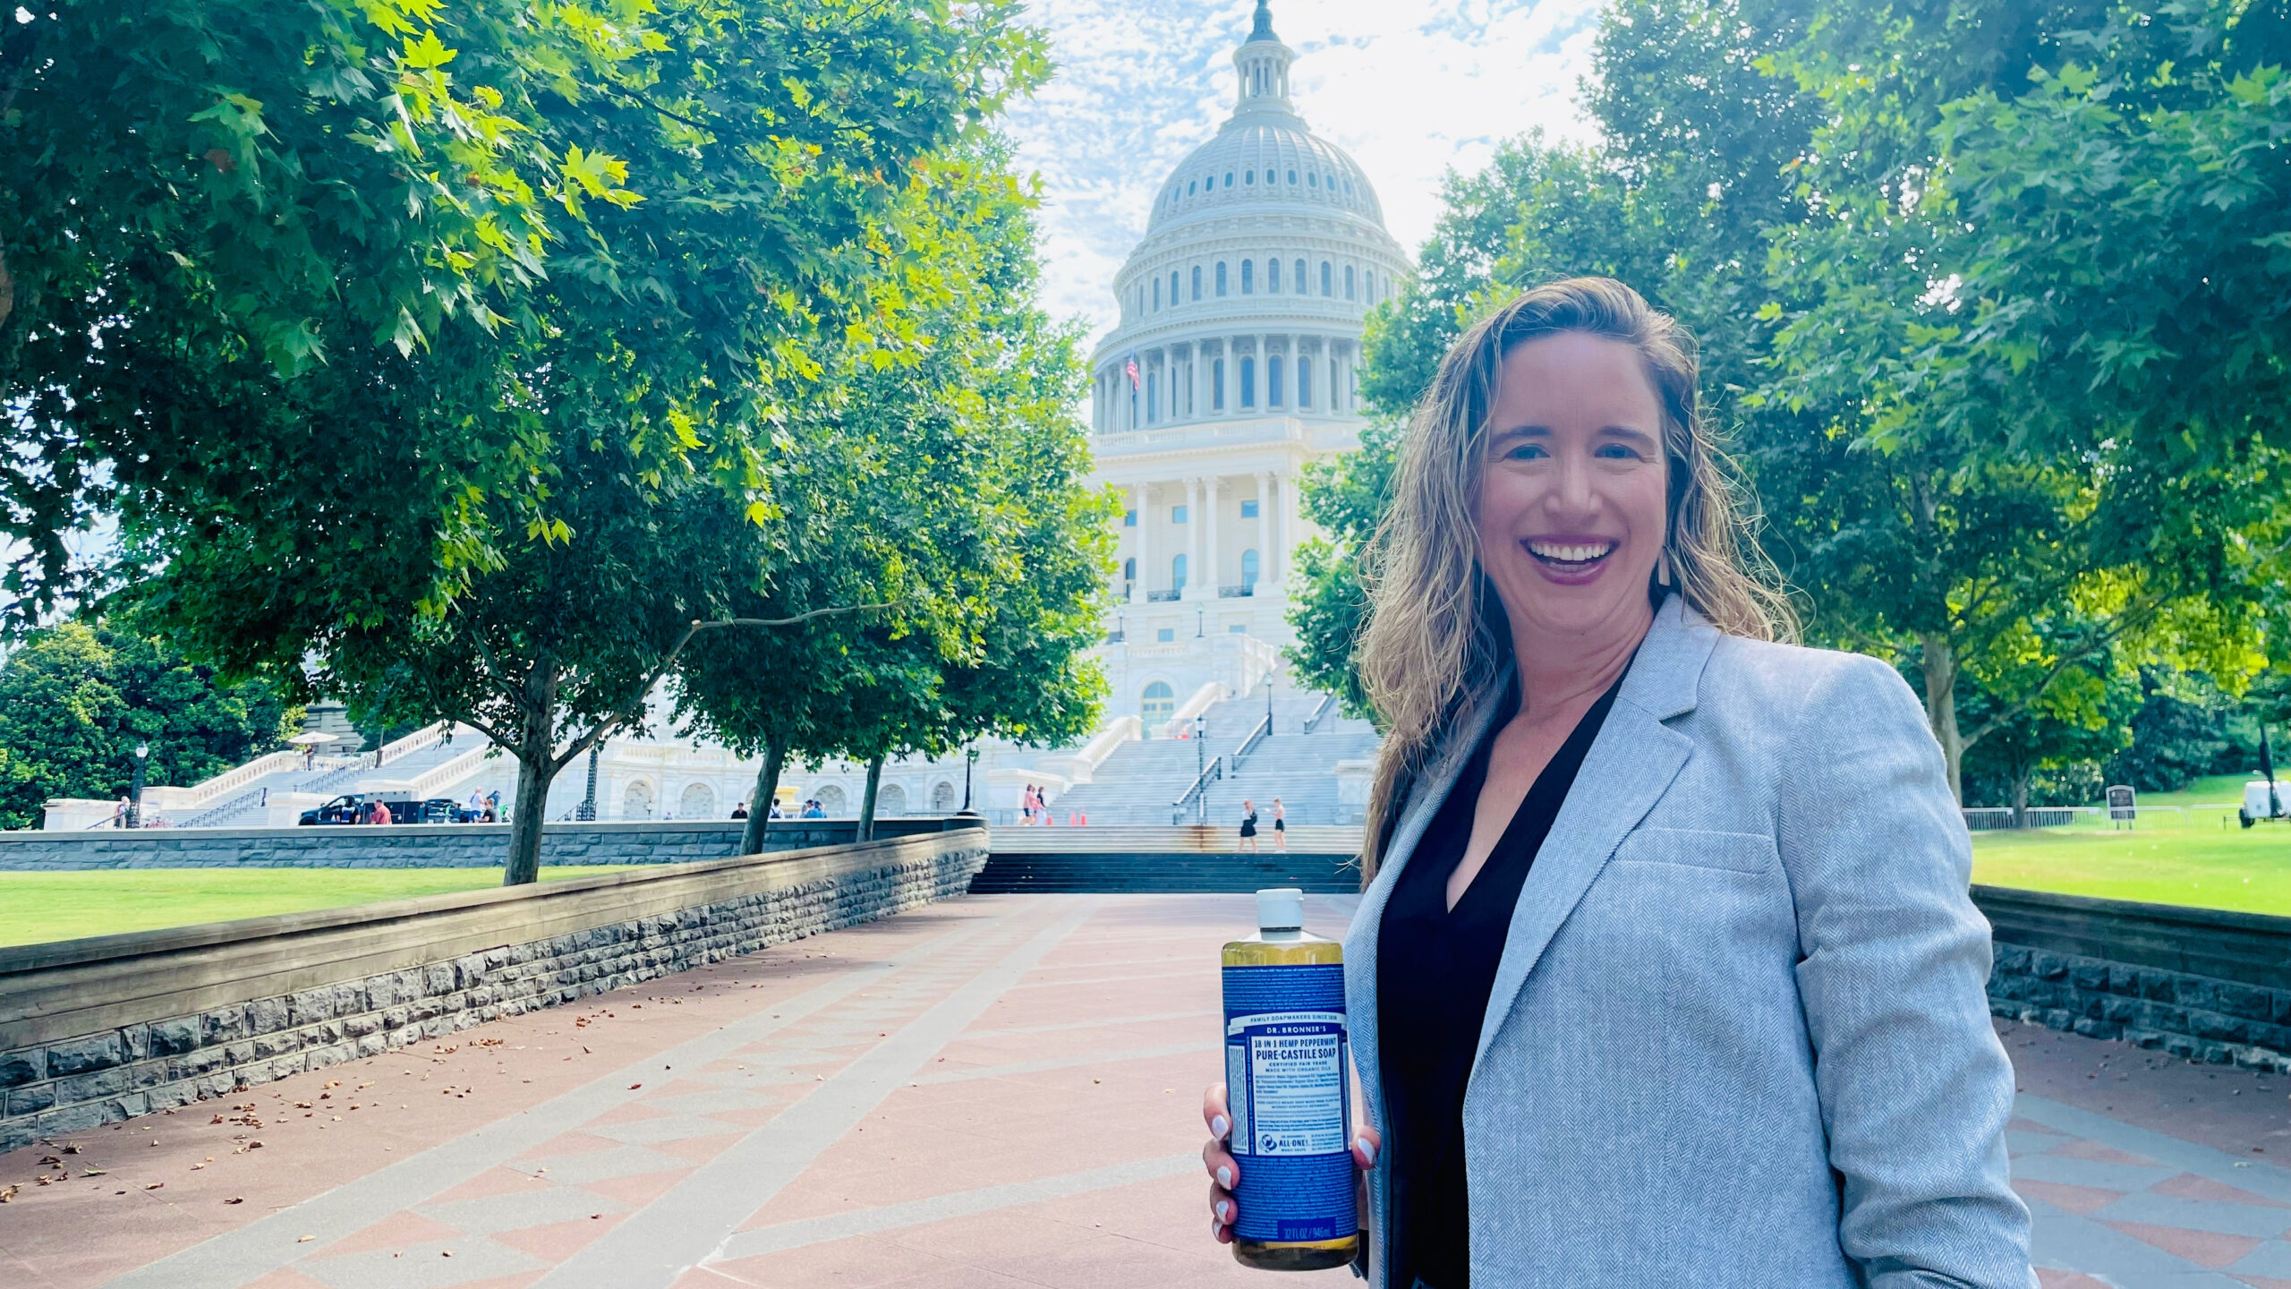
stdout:
{"type": "Polygon", "coordinates": [[[1663,404],[1633,346],[1560,333],[1503,358],[1478,516],[1480,567],[1514,638],[1647,622],[1668,466],[1663,404]]]}

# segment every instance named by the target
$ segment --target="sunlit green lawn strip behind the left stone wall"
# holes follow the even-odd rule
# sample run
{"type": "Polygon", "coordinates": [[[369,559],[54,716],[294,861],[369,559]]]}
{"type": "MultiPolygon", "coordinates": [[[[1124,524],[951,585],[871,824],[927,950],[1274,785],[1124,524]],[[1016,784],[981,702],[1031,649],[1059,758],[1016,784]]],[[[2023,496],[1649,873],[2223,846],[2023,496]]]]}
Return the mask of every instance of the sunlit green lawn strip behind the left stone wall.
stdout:
{"type": "MultiPolygon", "coordinates": [[[[607,874],[545,867],[541,881],[607,874]]],[[[339,908],[502,885],[502,869],[96,869],[0,872],[0,945],[339,908]]]]}

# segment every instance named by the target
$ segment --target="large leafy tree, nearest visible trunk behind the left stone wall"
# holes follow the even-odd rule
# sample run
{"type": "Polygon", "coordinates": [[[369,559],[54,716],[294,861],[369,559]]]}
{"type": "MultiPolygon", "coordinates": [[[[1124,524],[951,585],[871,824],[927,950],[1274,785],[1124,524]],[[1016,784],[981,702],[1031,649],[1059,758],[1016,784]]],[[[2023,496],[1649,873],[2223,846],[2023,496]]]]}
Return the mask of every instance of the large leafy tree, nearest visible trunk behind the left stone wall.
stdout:
{"type": "Polygon", "coordinates": [[[914,317],[960,291],[926,172],[1040,73],[1010,18],[664,5],[639,55],[534,126],[566,156],[609,140],[651,200],[589,211],[527,289],[527,326],[208,408],[206,433],[247,433],[202,438],[124,516],[167,567],[151,603],[229,667],[316,649],[318,683],[369,718],[488,729],[520,761],[506,881],[534,881],[557,771],[630,718],[694,619],[738,617],[717,606],[758,571],[726,580],[694,516],[772,523],[820,335],[900,369],[914,317]],[[362,461],[312,422],[360,427],[362,461]]]}

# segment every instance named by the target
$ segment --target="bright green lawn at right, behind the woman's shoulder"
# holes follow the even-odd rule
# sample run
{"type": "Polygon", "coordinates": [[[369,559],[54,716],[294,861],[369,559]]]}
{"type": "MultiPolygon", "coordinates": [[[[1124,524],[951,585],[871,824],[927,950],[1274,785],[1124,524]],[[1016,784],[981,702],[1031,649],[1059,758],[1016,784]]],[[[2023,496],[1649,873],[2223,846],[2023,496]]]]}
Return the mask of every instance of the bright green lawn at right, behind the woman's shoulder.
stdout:
{"type": "MultiPolygon", "coordinates": [[[[2142,794],[2140,805],[2234,805],[2247,775],[2142,794]]],[[[1975,833],[1973,881],[2291,915],[2291,826],[2236,826],[2234,810],[2142,814],[2135,828],[2078,821],[2032,833],[1975,833]]]]}

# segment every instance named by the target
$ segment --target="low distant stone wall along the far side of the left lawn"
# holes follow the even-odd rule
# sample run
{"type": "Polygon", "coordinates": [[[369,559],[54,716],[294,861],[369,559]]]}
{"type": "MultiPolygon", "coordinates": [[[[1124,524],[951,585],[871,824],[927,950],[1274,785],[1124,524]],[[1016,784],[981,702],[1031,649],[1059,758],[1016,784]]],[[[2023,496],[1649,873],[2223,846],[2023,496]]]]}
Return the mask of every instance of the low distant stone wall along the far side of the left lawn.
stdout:
{"type": "MultiPolygon", "coordinates": [[[[550,823],[543,865],[676,865],[729,860],[745,819],[550,823]]],[[[942,819],[880,819],[875,837],[937,833],[942,819]]],[[[852,819],[777,819],[765,851],[850,844],[852,819]]],[[[330,828],[99,828],[0,833],[0,869],[486,869],[509,853],[509,823],[389,823],[330,828]]]]}

